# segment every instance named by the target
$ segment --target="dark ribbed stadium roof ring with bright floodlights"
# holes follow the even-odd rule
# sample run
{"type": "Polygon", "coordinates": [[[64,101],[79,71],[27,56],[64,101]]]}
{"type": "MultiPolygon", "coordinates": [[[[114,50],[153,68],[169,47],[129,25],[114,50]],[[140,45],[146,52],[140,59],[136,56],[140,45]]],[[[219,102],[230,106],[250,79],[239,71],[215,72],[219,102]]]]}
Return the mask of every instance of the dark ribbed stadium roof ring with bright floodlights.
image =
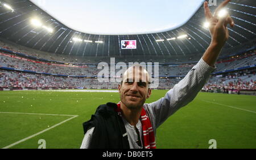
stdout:
{"type": "MultiPolygon", "coordinates": [[[[203,27],[203,5],[179,28],[160,33],[98,35],[75,31],[60,23],[30,1],[0,0],[0,37],[49,53],[82,56],[191,55],[203,53],[210,44],[203,27]],[[177,38],[181,35],[184,38],[177,38]],[[173,38],[176,38],[175,40],[173,38]],[[136,40],[137,49],[121,49],[121,40],[136,40]],[[160,41],[158,41],[160,40],[160,41]]],[[[222,1],[217,1],[217,4],[222,1]]],[[[211,6],[214,10],[216,6],[211,6]]],[[[254,1],[233,0],[226,7],[235,21],[225,47],[255,39],[254,1]]],[[[114,23],[110,21],[109,23],[114,23]]]]}

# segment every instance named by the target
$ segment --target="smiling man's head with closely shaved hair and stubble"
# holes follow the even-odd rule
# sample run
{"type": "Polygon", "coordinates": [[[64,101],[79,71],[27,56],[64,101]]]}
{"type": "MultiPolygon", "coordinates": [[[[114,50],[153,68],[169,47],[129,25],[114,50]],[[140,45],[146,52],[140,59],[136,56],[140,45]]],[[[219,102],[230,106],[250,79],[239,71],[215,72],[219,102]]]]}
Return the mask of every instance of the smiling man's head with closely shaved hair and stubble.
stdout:
{"type": "Polygon", "coordinates": [[[123,82],[118,86],[121,102],[129,109],[141,109],[151,95],[148,88],[148,73],[138,67],[128,68],[123,82]]]}

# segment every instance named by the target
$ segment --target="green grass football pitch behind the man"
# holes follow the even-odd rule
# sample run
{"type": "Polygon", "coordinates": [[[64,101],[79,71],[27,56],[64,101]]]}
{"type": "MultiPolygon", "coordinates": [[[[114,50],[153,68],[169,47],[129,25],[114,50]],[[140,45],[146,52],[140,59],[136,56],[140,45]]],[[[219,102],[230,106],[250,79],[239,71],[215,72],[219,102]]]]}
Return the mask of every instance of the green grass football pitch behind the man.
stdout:
{"type": "MultiPolygon", "coordinates": [[[[153,90],[146,102],[167,90],[153,90]]],[[[82,123],[118,93],[1,91],[0,148],[80,148],[82,123]],[[20,114],[22,113],[22,114],[20,114]],[[35,114],[27,114],[35,113],[35,114]]],[[[157,129],[157,148],[256,148],[256,97],[199,93],[157,129]]]]}

